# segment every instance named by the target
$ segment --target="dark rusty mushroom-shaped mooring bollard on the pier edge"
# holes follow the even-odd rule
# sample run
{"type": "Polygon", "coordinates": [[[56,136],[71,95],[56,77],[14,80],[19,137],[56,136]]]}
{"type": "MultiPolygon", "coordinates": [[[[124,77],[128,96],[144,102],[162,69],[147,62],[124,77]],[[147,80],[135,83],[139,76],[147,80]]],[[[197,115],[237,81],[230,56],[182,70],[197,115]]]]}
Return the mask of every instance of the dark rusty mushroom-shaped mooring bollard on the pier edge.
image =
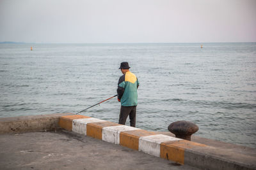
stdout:
{"type": "Polygon", "coordinates": [[[191,141],[191,135],[198,131],[198,126],[192,122],[181,120],[170,124],[168,130],[175,134],[176,138],[191,141]]]}

